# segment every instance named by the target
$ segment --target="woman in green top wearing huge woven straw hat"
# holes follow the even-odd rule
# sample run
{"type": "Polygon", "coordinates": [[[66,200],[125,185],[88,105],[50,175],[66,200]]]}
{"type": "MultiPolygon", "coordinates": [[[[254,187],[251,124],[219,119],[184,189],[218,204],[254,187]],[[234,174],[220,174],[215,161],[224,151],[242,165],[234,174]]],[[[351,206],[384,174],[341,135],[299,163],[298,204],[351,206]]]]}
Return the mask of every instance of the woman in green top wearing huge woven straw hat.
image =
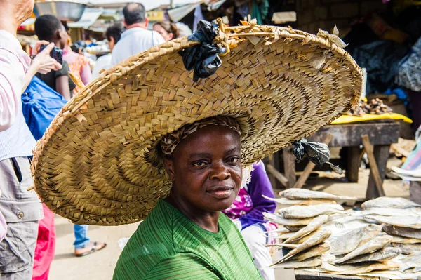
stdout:
{"type": "Polygon", "coordinates": [[[201,22],[63,107],[34,152],[36,192],[75,223],[144,220],[114,279],[261,279],[220,211],[242,167],[359,100],[361,69],[339,45],[327,32],[201,22]]]}

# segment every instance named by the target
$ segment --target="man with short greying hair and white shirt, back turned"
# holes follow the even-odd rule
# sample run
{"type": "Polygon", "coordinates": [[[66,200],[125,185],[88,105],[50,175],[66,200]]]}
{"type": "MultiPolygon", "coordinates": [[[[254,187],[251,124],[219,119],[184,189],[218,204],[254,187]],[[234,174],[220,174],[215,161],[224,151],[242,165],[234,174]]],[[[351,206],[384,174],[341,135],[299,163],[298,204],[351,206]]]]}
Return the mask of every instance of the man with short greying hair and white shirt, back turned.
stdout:
{"type": "Polygon", "coordinates": [[[123,8],[126,31],[112,51],[112,65],[146,51],[148,48],[165,43],[161,34],[147,29],[149,20],[142,4],[128,4],[123,8]]]}

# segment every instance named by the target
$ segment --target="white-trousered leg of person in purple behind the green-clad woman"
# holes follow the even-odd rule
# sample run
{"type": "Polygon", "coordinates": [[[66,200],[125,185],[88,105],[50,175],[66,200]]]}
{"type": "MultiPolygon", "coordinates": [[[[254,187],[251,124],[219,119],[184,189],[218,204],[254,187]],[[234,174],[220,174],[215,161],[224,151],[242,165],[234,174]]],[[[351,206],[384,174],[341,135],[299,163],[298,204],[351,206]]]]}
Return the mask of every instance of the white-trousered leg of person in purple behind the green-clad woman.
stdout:
{"type": "MultiPolygon", "coordinates": [[[[272,265],[272,258],[269,249],[266,247],[265,232],[258,225],[252,225],[241,231],[244,241],[250,250],[251,256],[258,269],[263,269],[272,265]]],[[[265,280],[274,280],[274,269],[260,270],[262,278],[265,280]]]]}

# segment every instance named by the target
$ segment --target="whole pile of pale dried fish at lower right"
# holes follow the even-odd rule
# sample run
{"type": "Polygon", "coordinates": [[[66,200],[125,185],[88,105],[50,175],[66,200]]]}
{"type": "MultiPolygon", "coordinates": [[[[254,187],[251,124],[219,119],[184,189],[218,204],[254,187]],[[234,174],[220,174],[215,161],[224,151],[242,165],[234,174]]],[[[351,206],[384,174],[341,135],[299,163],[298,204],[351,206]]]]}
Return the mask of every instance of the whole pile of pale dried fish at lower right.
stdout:
{"type": "Polygon", "coordinates": [[[420,205],[381,197],[366,201],[362,211],[346,211],[337,202],[355,198],[307,189],[279,195],[272,200],[281,209],[265,217],[281,225],[274,246],[290,251],[272,267],[390,279],[421,277],[420,205]],[[353,222],[352,227],[343,226],[353,222]]]}

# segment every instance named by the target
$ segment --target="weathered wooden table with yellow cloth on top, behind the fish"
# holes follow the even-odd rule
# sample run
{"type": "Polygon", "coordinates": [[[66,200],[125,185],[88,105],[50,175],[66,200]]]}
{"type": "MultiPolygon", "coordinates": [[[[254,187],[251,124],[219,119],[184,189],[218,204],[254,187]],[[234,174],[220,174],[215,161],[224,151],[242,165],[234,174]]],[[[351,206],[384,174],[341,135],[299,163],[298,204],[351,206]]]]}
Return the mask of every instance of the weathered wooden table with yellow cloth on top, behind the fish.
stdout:
{"type": "MultiPolygon", "coordinates": [[[[316,131],[307,140],[312,142],[323,142],[328,134],[333,135],[332,140],[328,144],[329,147],[342,147],[347,154],[346,177],[349,182],[358,182],[359,161],[362,145],[361,136],[368,135],[371,145],[374,146],[374,157],[380,173],[381,181],[385,179],[386,164],[389,158],[389,148],[392,143],[396,143],[399,138],[399,122],[398,121],[366,121],[354,124],[331,124],[323,126],[316,131]]],[[[283,149],[283,166],[284,174],[276,172],[276,156],[270,161],[268,171],[272,175],[272,183],[274,178],[279,180],[286,187],[294,187],[295,179],[295,157],[290,154],[290,148],[283,149]],[[274,171],[275,169],[275,171],[274,171]]],[[[373,171],[370,172],[368,180],[368,188],[366,199],[373,199],[379,196],[379,192],[375,187],[373,171]]]]}

